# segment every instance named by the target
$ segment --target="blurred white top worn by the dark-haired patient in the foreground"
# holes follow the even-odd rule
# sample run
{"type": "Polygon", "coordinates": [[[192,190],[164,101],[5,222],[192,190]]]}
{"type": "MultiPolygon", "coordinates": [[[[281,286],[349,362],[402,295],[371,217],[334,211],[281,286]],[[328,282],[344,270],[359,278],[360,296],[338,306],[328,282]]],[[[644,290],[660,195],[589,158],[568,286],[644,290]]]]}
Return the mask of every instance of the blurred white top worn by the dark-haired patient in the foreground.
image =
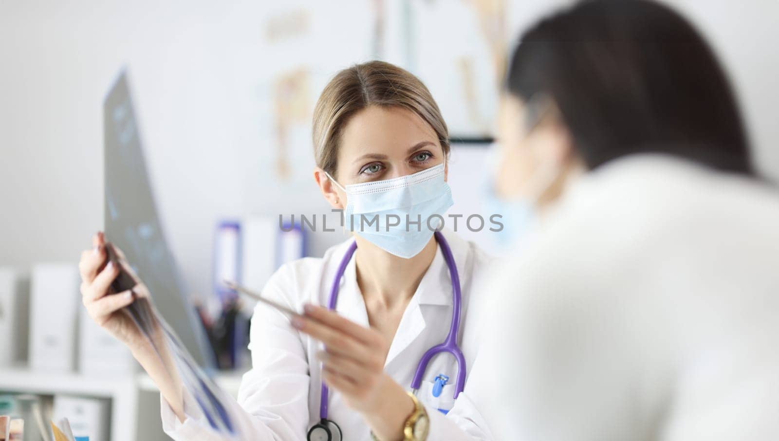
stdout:
{"type": "Polygon", "coordinates": [[[775,187],[626,157],[534,236],[495,276],[501,337],[466,388],[495,439],[779,438],[775,187]]]}

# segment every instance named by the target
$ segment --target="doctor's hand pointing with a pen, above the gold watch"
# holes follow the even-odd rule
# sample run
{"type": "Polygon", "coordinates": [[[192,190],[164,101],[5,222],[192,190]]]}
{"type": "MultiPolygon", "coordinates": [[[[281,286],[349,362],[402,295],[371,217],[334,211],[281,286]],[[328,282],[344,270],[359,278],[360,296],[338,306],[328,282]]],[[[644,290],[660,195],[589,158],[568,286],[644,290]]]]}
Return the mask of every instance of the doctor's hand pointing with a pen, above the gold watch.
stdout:
{"type": "Polygon", "coordinates": [[[384,372],[388,344],[381,333],[322,306],[305,305],[304,310],[292,326],[325,345],[317,354],[323,381],[363,415],[379,439],[402,438],[414,401],[384,372]]]}

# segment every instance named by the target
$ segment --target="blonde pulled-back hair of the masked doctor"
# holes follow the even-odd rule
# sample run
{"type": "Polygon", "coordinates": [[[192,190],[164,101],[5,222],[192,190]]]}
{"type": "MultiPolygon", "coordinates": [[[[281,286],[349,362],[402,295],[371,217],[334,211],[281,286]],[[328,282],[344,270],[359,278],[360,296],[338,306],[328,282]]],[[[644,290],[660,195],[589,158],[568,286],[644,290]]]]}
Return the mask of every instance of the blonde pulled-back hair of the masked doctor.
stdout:
{"type": "Polygon", "coordinates": [[[354,114],[369,106],[413,111],[432,127],[444,157],[449,157],[449,129],[425,84],[397,65],[366,62],[338,72],[316,101],[314,155],[316,164],[330,175],[336,174],[341,132],[354,114]]]}

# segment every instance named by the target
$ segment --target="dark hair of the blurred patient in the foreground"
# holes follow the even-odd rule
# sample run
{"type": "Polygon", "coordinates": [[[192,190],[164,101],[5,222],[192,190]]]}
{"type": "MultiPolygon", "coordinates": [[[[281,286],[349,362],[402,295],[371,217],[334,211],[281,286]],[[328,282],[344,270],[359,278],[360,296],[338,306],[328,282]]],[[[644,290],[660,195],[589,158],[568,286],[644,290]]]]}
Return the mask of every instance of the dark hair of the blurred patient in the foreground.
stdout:
{"type": "Polygon", "coordinates": [[[664,5],[594,0],[549,16],[520,37],[506,80],[522,101],[555,101],[587,168],[662,152],[753,174],[724,70],[664,5]]]}

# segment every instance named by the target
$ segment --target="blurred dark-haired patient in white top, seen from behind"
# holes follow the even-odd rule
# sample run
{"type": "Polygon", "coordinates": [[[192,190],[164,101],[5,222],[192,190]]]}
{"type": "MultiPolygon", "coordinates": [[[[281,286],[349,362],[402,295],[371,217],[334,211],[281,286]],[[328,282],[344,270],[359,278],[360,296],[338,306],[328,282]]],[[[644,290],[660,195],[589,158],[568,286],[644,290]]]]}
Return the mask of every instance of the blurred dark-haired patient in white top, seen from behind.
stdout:
{"type": "Polygon", "coordinates": [[[466,387],[492,436],[775,439],[779,196],[700,33],[656,2],[556,12],[500,127],[493,190],[523,222],[466,387]]]}

